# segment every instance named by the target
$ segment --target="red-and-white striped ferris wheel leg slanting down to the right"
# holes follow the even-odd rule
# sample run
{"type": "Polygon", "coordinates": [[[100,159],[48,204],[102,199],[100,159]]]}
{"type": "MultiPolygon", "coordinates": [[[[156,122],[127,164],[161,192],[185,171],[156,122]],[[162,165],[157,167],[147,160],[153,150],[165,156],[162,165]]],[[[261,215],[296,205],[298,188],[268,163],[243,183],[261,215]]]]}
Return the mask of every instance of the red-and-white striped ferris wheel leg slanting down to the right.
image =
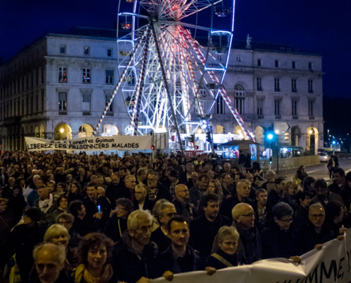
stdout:
{"type": "MultiPolygon", "coordinates": [[[[199,57],[199,59],[201,60],[202,64],[205,66],[206,59],[204,57],[204,54],[202,54],[201,50],[199,50],[199,47],[196,45],[196,42],[194,41],[193,37],[191,37],[191,35],[189,34],[189,31],[188,30],[184,30],[184,35],[186,36],[187,40],[189,40],[191,46],[194,48],[194,51],[196,52],[197,57],[199,57]]],[[[216,83],[220,83],[220,81],[218,80],[218,78],[216,77],[216,75],[214,74],[213,71],[207,71],[207,72],[211,76],[212,81],[215,81],[216,83]]],[[[233,105],[232,105],[230,99],[228,98],[227,93],[225,92],[225,90],[221,87],[221,88],[218,88],[218,91],[221,93],[221,96],[225,100],[225,103],[228,105],[228,108],[229,108],[230,112],[232,112],[233,116],[235,117],[235,120],[238,122],[238,124],[241,127],[241,129],[243,129],[243,132],[246,135],[246,137],[248,139],[250,139],[251,141],[255,141],[254,137],[251,136],[249,130],[246,129],[244,121],[240,117],[240,115],[238,113],[238,110],[236,110],[233,107],[233,105]]]]}

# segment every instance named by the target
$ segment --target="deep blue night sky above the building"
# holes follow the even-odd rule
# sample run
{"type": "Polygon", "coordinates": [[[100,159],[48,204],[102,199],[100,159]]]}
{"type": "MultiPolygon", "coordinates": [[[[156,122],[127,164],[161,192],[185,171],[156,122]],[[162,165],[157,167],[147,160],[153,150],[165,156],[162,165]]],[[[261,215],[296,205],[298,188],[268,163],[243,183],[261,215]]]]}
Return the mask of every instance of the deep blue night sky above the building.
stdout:
{"type": "MultiPolygon", "coordinates": [[[[125,0],[121,5],[132,7],[125,0]]],[[[118,1],[2,0],[0,7],[0,56],[6,62],[45,32],[73,26],[113,28],[118,1]]],[[[208,13],[203,15],[199,24],[208,20],[208,13]]],[[[350,0],[237,0],[235,40],[245,40],[249,33],[252,43],[290,45],[322,54],[324,95],[350,97],[350,15],[350,0]]]]}

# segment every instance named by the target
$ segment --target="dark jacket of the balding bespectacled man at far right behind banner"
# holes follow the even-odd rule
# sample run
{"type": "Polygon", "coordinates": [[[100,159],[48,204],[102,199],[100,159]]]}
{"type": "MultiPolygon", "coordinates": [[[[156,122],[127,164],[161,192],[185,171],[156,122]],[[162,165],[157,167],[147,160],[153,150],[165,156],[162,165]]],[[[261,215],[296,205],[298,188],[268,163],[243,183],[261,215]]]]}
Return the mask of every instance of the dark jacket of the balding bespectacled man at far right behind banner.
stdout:
{"type": "Polygon", "coordinates": [[[333,231],[328,229],[326,226],[322,226],[321,233],[317,233],[315,226],[308,221],[306,226],[300,227],[296,233],[295,238],[295,253],[297,255],[303,255],[304,253],[313,250],[318,243],[326,243],[335,238],[333,231]]]}

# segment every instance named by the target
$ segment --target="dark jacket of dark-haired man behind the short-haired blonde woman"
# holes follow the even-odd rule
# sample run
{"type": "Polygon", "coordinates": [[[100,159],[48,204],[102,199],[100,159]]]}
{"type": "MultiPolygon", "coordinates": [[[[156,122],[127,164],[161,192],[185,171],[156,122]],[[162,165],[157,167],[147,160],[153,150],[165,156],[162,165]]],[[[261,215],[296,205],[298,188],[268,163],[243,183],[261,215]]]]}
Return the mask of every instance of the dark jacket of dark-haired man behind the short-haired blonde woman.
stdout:
{"type": "Polygon", "coordinates": [[[208,256],[211,255],[213,240],[216,237],[218,230],[222,226],[230,226],[232,221],[228,217],[218,215],[216,219],[211,222],[206,219],[206,216],[201,215],[190,222],[190,236],[194,242],[195,250],[208,256]]]}

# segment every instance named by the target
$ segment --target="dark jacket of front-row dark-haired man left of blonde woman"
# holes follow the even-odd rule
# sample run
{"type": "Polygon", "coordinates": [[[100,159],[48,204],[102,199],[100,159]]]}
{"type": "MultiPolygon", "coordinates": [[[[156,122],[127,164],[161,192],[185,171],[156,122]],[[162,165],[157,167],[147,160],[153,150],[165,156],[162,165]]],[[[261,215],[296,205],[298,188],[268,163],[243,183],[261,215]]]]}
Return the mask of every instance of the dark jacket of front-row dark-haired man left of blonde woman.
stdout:
{"type": "Polygon", "coordinates": [[[166,271],[174,274],[182,272],[191,272],[205,270],[205,263],[203,258],[199,256],[191,246],[186,246],[186,255],[183,258],[174,258],[172,245],[169,245],[165,252],[161,253],[157,259],[157,277],[161,277],[166,271]]]}

